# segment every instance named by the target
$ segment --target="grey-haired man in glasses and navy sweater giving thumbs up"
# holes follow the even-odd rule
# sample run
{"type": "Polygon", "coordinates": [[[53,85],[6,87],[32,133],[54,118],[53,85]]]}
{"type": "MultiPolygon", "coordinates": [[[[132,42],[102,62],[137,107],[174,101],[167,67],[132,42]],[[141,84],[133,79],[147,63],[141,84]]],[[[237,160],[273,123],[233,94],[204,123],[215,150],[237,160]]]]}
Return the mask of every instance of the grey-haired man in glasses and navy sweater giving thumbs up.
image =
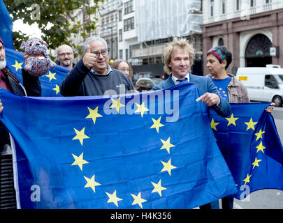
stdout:
{"type": "Polygon", "coordinates": [[[129,77],[108,65],[108,47],[105,40],[89,37],[82,48],[84,56],[61,83],[61,95],[110,95],[134,89],[129,77]]]}

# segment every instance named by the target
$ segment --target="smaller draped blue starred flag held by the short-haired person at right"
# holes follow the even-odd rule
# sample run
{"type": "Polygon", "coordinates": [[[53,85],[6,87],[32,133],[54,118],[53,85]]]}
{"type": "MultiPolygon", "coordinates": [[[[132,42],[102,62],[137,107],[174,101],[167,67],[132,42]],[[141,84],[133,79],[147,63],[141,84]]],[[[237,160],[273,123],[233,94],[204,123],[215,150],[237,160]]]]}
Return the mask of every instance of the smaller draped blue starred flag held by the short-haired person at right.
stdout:
{"type": "Polygon", "coordinates": [[[283,147],[270,103],[231,104],[231,117],[211,114],[210,125],[217,144],[244,199],[261,189],[283,190],[283,147]]]}

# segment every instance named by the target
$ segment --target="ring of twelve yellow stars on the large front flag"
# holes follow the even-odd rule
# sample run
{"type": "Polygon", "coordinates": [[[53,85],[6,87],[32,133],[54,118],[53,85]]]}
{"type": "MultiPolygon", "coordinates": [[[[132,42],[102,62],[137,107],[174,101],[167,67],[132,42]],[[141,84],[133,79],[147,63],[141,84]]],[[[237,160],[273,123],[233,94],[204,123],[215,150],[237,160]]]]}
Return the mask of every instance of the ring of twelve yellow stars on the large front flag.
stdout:
{"type": "MultiPolygon", "coordinates": [[[[119,114],[120,108],[125,107],[125,105],[122,104],[122,102],[120,101],[120,98],[117,98],[117,100],[115,100],[114,98],[110,98],[110,99],[112,102],[112,105],[110,105],[110,108],[116,109],[117,113],[119,114]]],[[[145,112],[150,111],[150,109],[147,109],[147,107],[145,107],[145,102],[143,102],[141,105],[139,105],[138,103],[135,103],[135,105],[137,109],[134,113],[140,114],[141,118],[143,118],[143,115],[145,114],[145,112]]],[[[92,118],[92,121],[95,125],[96,118],[103,117],[101,114],[99,114],[99,107],[96,107],[94,109],[87,107],[87,109],[89,111],[89,114],[85,118],[92,118]]],[[[152,118],[152,123],[153,124],[150,126],[150,129],[155,129],[157,131],[157,134],[159,134],[159,129],[164,127],[164,125],[161,123],[161,116],[157,118],[157,120],[152,118]]],[[[80,145],[83,146],[83,141],[85,139],[89,139],[87,134],[85,134],[85,127],[82,128],[81,130],[77,130],[76,128],[73,128],[73,130],[75,131],[76,135],[75,137],[73,137],[72,140],[80,141],[80,145]]],[[[170,155],[170,149],[175,147],[175,145],[171,144],[170,137],[168,137],[168,139],[160,139],[160,141],[162,143],[160,150],[166,150],[168,154],[170,155]]],[[[72,155],[75,161],[71,164],[71,166],[78,165],[78,167],[82,171],[83,165],[88,164],[89,162],[84,160],[83,153],[81,153],[80,155],[74,155],[74,154],[72,155]]],[[[173,166],[171,158],[167,161],[161,160],[161,164],[163,165],[163,168],[161,169],[160,172],[167,171],[169,176],[171,176],[172,170],[177,168],[173,166]]],[[[85,188],[90,187],[92,191],[95,193],[96,187],[101,185],[99,182],[96,182],[95,175],[84,176],[84,178],[86,180],[85,188]]],[[[162,197],[162,191],[167,190],[167,188],[161,185],[161,179],[159,179],[158,182],[151,182],[151,183],[152,183],[152,186],[154,187],[152,190],[152,193],[157,192],[159,196],[162,197]]],[[[117,190],[114,190],[113,192],[106,192],[106,195],[108,197],[107,203],[114,203],[115,206],[117,207],[119,207],[119,201],[123,200],[122,198],[117,197],[117,190]]],[[[130,195],[133,198],[132,205],[137,204],[138,206],[140,206],[140,208],[143,208],[143,203],[147,202],[147,200],[142,197],[141,192],[138,192],[138,194],[130,194],[130,195]]]]}

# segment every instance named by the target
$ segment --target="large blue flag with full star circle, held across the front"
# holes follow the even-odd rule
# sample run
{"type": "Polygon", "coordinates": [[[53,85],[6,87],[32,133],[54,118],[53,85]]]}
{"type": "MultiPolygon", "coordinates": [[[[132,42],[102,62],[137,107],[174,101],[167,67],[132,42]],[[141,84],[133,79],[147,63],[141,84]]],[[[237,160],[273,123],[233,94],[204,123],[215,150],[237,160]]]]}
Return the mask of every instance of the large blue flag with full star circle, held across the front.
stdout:
{"type": "Polygon", "coordinates": [[[112,96],[0,94],[18,208],[194,208],[236,192],[194,84],[112,96]]]}

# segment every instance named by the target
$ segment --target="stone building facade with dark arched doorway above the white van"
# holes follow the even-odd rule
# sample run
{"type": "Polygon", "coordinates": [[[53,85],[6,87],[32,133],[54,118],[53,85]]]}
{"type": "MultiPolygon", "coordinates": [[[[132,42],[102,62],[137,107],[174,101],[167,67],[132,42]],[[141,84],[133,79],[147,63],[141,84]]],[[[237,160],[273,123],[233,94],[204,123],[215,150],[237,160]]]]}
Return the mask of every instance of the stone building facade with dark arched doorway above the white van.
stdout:
{"type": "Polygon", "coordinates": [[[283,66],[283,1],[204,0],[202,29],[204,75],[206,53],[217,45],[233,54],[228,72],[270,63],[283,66]]]}

